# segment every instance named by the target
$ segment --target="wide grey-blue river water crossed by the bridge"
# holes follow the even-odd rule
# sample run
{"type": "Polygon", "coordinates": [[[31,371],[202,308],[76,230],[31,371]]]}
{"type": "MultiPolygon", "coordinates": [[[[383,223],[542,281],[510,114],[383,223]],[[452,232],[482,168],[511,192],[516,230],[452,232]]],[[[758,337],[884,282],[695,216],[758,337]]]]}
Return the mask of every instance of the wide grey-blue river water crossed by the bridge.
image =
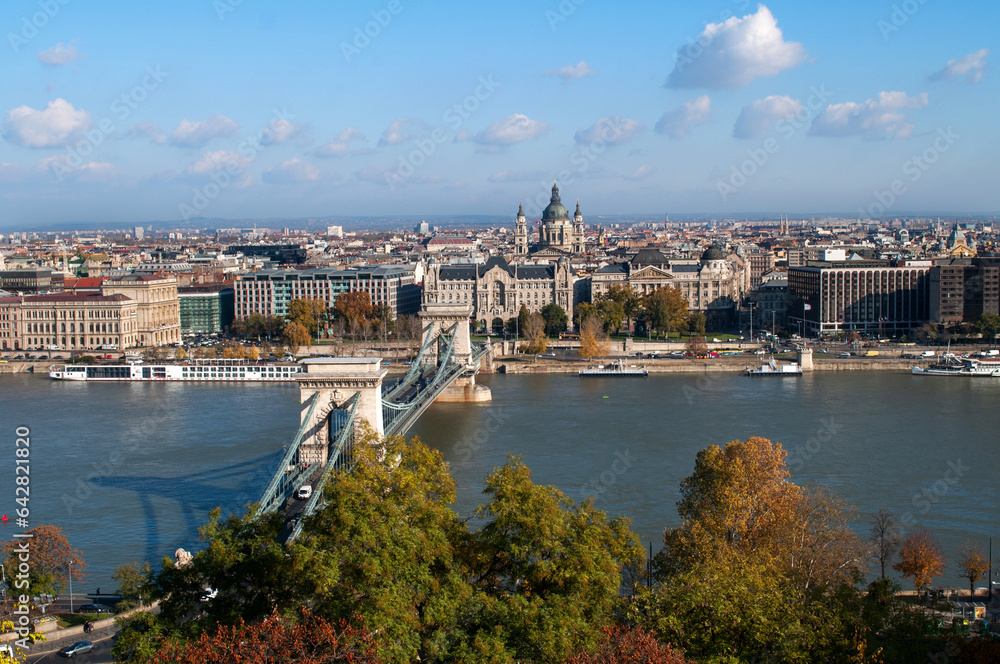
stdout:
{"type": "MultiPolygon", "coordinates": [[[[517,453],[537,483],[631,518],[655,548],[678,523],[678,487],[698,451],[758,435],[789,450],[795,481],[831,487],[862,522],[885,505],[907,529],[932,530],[949,558],[941,583],[964,583],[954,569],[964,539],[985,546],[1000,535],[1000,380],[853,371],[479,380],[492,403],[438,404],[411,430],[450,463],[463,516],[482,501],[486,474],[517,453]]],[[[111,588],[118,564],[197,549],[208,510],[257,497],[298,409],[292,386],[2,375],[0,512],[14,515],[15,429],[27,426],[32,524],[61,525],[89,563],[85,588],[111,588]]],[[[18,530],[0,525],[4,538],[18,530]]]]}

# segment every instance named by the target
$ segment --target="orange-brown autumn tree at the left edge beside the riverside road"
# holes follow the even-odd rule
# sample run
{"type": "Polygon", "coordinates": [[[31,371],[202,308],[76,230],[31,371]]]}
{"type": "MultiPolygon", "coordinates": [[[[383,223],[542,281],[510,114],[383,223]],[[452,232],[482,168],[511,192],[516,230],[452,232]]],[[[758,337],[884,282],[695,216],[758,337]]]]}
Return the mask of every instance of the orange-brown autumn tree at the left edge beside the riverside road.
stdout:
{"type": "Polygon", "coordinates": [[[4,568],[9,571],[6,574],[9,594],[58,595],[67,585],[69,578],[67,574],[71,575],[74,581],[86,578],[84,570],[87,569],[87,563],[83,560],[83,554],[70,545],[69,539],[63,535],[62,528],[43,524],[32,528],[28,534],[31,535],[30,538],[10,539],[3,543],[4,568]],[[26,542],[30,544],[26,545],[26,542]],[[28,546],[31,559],[27,588],[16,585],[19,580],[13,572],[18,569],[19,555],[23,555],[24,546],[28,546]]]}

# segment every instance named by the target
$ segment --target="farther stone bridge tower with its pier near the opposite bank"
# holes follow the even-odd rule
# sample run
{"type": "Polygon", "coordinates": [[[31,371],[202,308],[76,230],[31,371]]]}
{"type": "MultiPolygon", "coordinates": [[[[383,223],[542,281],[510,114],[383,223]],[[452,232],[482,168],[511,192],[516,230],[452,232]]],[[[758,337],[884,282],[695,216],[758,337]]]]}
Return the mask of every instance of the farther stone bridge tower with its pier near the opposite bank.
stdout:
{"type": "Polygon", "coordinates": [[[479,367],[472,359],[472,342],[469,337],[471,316],[471,304],[432,302],[423,305],[420,310],[420,321],[424,329],[423,344],[427,346],[421,362],[425,366],[444,362],[442,354],[454,335],[450,361],[465,365],[468,369],[465,375],[457,378],[435,401],[475,402],[490,401],[493,398],[490,388],[476,384],[476,371],[479,367]]]}

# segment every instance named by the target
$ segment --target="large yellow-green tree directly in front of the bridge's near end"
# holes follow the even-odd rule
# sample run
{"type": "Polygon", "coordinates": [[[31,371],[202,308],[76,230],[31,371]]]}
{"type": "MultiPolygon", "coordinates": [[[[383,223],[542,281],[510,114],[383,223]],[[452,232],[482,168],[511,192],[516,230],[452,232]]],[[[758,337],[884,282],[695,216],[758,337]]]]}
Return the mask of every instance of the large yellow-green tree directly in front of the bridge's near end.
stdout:
{"type": "Polygon", "coordinates": [[[297,572],[318,615],[378,626],[385,661],[440,661],[471,594],[455,560],[466,531],[450,507],[454,480],[417,439],[366,429],[353,449],[353,468],[334,473],[293,545],[297,572]]]}

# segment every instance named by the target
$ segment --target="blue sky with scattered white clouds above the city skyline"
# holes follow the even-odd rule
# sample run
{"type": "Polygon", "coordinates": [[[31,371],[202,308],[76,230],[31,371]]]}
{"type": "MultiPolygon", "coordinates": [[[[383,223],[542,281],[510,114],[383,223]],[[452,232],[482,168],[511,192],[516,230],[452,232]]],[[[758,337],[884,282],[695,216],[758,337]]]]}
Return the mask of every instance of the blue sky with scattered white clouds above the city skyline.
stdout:
{"type": "Polygon", "coordinates": [[[996,214],[1000,3],[7,0],[0,228],[996,214]],[[572,209],[572,207],[571,207],[572,209]]]}

